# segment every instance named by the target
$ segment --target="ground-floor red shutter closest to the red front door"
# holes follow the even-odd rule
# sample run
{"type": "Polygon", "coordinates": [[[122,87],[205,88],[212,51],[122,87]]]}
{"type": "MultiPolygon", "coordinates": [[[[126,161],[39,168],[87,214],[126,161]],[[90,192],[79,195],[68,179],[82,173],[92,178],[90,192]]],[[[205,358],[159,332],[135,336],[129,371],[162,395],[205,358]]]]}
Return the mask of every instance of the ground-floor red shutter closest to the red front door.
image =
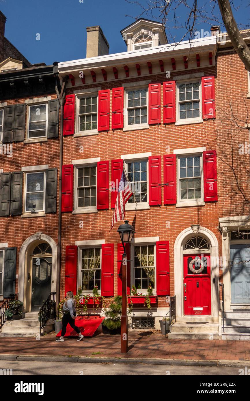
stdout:
{"type": "Polygon", "coordinates": [[[169,241],[156,243],[156,293],[170,295],[169,241]]]}

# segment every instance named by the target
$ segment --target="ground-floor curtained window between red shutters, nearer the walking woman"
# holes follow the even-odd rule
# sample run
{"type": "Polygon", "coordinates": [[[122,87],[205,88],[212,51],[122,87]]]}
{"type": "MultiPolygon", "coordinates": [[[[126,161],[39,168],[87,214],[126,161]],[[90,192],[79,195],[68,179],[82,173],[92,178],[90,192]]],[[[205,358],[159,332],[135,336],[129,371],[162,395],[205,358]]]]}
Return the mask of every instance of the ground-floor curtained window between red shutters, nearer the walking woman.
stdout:
{"type": "Polygon", "coordinates": [[[80,249],[79,286],[83,293],[90,293],[95,286],[101,290],[101,248],[88,247],[80,249]]]}

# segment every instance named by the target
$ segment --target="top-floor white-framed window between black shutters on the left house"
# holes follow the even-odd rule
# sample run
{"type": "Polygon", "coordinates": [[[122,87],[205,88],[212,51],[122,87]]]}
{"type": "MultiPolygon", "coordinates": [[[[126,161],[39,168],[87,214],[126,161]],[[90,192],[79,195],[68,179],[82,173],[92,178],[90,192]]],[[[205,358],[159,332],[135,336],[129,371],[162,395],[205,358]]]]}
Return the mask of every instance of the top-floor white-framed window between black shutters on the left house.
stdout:
{"type": "Polygon", "coordinates": [[[48,130],[48,104],[30,105],[28,108],[28,139],[45,138],[48,130]]]}

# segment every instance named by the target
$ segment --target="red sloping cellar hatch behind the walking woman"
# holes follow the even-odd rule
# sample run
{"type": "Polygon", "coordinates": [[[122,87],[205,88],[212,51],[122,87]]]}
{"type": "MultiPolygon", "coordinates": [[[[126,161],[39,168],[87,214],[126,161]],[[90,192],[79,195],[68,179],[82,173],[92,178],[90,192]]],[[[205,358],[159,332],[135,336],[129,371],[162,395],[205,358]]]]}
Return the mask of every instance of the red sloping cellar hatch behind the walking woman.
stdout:
{"type": "MultiPolygon", "coordinates": [[[[105,317],[100,316],[77,316],[75,326],[79,327],[84,337],[93,337],[93,335],[102,332],[102,321],[105,317]]],[[[61,330],[57,333],[57,337],[61,336],[61,330]]],[[[65,337],[76,337],[77,332],[68,324],[65,337]]]]}

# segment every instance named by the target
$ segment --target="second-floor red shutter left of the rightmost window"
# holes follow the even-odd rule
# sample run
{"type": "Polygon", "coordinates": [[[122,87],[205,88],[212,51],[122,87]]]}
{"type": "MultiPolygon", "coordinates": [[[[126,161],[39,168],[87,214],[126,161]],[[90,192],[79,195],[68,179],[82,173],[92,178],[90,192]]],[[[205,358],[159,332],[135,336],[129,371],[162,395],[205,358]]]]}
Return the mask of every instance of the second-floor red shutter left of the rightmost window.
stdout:
{"type": "Polygon", "coordinates": [[[163,158],[164,205],[176,204],[176,155],[166,154],[163,158]]]}

